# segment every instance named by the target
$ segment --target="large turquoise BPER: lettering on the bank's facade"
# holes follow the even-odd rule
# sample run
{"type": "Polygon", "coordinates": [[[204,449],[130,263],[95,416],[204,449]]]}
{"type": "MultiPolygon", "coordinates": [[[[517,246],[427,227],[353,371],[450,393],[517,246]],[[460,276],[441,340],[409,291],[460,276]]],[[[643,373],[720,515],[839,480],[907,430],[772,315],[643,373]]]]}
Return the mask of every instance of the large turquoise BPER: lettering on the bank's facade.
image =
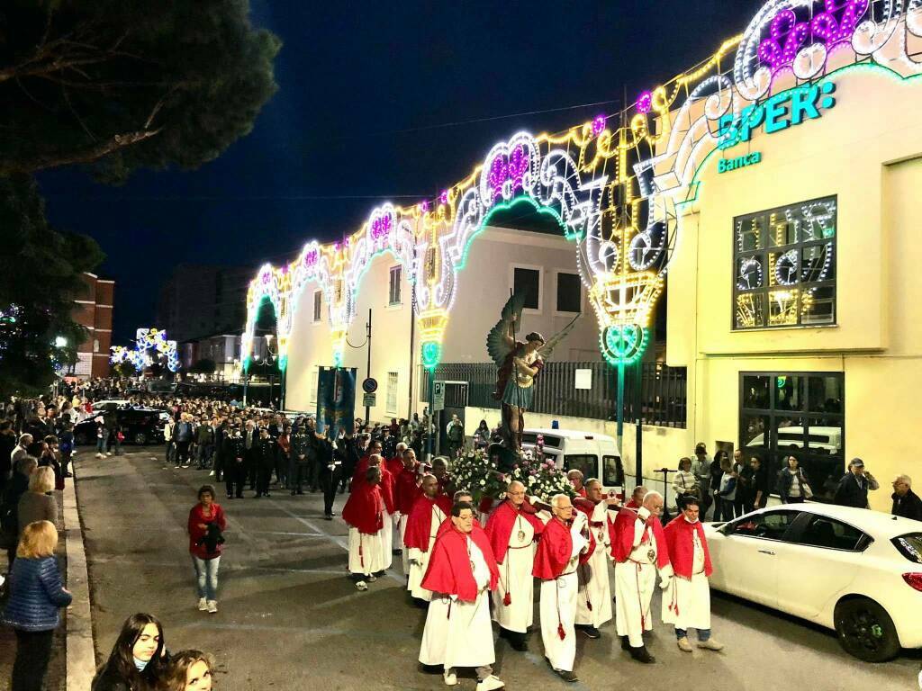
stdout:
{"type": "Polygon", "coordinates": [[[817,120],[823,111],[835,106],[834,92],[833,82],[790,88],[739,113],[728,112],[720,119],[717,146],[729,148],[748,142],[759,127],[764,127],[766,135],[773,135],[796,124],[817,120]]]}

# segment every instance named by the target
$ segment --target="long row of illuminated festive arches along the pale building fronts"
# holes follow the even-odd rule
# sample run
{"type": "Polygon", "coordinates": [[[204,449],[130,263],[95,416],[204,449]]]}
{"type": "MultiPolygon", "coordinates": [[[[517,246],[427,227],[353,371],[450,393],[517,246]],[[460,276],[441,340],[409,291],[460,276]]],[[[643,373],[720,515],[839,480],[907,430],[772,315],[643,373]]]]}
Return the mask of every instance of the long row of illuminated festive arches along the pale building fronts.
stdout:
{"type": "MultiPolygon", "coordinates": [[[[791,98],[803,98],[814,83],[828,95],[832,89],[823,85],[830,85],[824,79],[833,65],[922,74],[907,50],[909,37],[922,38],[922,0],[769,0],[742,34],[688,72],[644,90],[625,111],[561,135],[515,134],[434,199],[381,205],[348,239],[311,241],[290,264],[264,265],[247,295],[244,367],[265,299],[275,310],[279,364],[286,367],[293,314],[308,283],[323,291],[341,364],[361,278],[377,255],[390,252],[412,287],[422,362],[433,369],[471,241],[492,213],[521,201],[558,219],[575,245],[603,355],[613,364],[632,362],[643,356],[678,251],[680,208],[696,197],[703,161],[735,143],[727,141],[727,123],[748,122],[747,112],[762,111],[791,82],[800,89],[791,98]]],[[[838,69],[839,80],[847,73],[838,69]]]]}

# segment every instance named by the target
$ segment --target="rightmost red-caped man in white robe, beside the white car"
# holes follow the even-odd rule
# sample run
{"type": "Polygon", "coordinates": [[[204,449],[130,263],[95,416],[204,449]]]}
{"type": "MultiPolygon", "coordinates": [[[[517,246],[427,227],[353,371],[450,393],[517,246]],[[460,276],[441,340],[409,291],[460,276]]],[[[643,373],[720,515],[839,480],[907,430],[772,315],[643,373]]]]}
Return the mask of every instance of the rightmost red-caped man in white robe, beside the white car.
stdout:
{"type": "Polygon", "coordinates": [[[676,627],[679,650],[691,652],[688,629],[698,632],[698,647],[722,650],[711,638],[711,589],[707,579],[714,571],[707,538],[698,520],[699,503],[694,496],[682,502],[682,512],[663,529],[674,571],[663,592],[663,623],[676,627]]]}

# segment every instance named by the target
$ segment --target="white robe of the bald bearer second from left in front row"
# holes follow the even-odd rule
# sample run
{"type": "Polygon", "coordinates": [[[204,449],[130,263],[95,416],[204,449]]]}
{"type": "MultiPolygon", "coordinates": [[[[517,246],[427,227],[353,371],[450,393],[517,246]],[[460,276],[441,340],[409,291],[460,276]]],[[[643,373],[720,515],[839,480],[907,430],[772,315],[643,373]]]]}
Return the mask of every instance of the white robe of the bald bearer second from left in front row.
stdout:
{"type": "Polygon", "coordinates": [[[526,633],[535,619],[535,528],[518,516],[509,533],[509,548],[500,569],[500,580],[493,591],[493,620],[507,631],[526,633]],[[522,537],[519,537],[519,532],[522,537]],[[509,604],[503,604],[510,592],[509,604]]]}

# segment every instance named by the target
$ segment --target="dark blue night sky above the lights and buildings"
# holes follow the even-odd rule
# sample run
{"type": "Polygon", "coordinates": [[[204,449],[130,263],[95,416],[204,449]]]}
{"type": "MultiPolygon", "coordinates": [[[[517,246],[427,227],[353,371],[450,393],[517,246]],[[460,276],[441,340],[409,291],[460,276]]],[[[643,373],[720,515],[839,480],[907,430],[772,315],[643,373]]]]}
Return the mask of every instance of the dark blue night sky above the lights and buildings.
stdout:
{"type": "Polygon", "coordinates": [[[620,110],[745,29],[759,0],[253,0],[284,41],[254,131],[200,170],[97,185],[41,175],[52,222],[100,242],[114,343],[154,319],[174,264],[278,262],[354,231],[385,199],[434,197],[517,130],[620,110]],[[485,120],[513,113],[571,110],[485,120]]]}

